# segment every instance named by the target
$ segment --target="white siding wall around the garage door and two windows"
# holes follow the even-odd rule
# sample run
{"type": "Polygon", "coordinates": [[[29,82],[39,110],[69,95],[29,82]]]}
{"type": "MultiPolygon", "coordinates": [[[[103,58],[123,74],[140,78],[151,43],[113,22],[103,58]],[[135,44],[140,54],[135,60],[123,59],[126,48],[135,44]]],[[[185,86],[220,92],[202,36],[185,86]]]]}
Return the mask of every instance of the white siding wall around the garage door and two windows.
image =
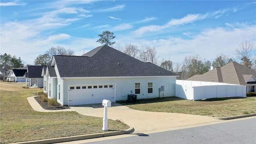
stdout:
{"type": "MultiPolygon", "coordinates": [[[[127,95],[135,93],[135,83],[140,83],[140,94],[137,99],[159,97],[159,88],[164,86],[164,96],[175,96],[176,77],[146,77],[146,78],[84,78],[84,79],[64,79],[61,101],[63,105],[68,105],[69,85],[88,84],[115,84],[116,101],[127,100],[127,95]],[[153,93],[148,94],[148,82],[153,82],[153,93]]],[[[57,88],[56,88],[57,89],[57,88]]]]}

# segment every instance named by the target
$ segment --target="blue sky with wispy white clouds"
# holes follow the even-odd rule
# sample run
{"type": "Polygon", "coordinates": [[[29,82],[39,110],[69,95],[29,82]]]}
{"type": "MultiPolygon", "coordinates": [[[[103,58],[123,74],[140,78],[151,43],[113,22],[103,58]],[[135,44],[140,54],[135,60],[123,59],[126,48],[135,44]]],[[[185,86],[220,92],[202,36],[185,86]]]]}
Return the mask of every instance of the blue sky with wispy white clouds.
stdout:
{"type": "Polygon", "coordinates": [[[242,42],[256,46],[256,1],[0,1],[0,53],[24,64],[33,65],[52,46],[81,56],[102,45],[96,41],[105,30],[119,46],[154,47],[158,60],[236,58],[242,42]]]}

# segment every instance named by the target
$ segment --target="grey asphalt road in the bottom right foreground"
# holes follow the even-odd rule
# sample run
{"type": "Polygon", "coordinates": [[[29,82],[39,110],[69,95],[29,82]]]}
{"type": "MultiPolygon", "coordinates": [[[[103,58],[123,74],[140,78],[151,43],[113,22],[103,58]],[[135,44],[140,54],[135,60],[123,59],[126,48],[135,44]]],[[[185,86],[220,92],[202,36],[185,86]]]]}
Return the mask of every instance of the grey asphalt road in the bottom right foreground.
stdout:
{"type": "Polygon", "coordinates": [[[86,144],[256,144],[256,118],[86,144]]]}

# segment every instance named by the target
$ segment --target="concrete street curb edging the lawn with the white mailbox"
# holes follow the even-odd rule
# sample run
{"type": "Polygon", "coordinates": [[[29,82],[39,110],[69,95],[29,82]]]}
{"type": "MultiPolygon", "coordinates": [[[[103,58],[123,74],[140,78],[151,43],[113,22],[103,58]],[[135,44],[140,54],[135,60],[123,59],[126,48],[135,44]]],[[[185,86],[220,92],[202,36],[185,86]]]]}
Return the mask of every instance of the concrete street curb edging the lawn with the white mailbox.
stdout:
{"type": "Polygon", "coordinates": [[[102,132],[97,134],[86,134],[81,136],[68,136],[63,138],[50,138],[45,140],[33,140],[28,142],[16,142],[16,143],[10,143],[10,144],[52,144],[52,143],[59,143],[59,142],[71,142],[74,140],[86,140],[90,138],[100,138],[100,137],[106,137],[106,136],[116,136],[121,134],[130,134],[134,132],[134,128],[130,126],[127,130],[119,130],[114,132],[102,132]]]}

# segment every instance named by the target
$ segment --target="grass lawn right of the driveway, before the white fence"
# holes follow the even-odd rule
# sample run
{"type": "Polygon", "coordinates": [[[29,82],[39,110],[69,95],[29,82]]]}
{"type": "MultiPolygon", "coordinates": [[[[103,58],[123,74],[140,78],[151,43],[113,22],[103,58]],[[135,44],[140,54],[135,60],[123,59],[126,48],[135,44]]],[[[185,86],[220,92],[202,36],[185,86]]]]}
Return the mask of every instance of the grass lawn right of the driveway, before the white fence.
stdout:
{"type": "Polygon", "coordinates": [[[149,112],[174,112],[200,116],[228,117],[256,113],[256,98],[212,98],[184,100],[178,97],[137,100],[137,103],[118,102],[130,108],[149,112]]]}

